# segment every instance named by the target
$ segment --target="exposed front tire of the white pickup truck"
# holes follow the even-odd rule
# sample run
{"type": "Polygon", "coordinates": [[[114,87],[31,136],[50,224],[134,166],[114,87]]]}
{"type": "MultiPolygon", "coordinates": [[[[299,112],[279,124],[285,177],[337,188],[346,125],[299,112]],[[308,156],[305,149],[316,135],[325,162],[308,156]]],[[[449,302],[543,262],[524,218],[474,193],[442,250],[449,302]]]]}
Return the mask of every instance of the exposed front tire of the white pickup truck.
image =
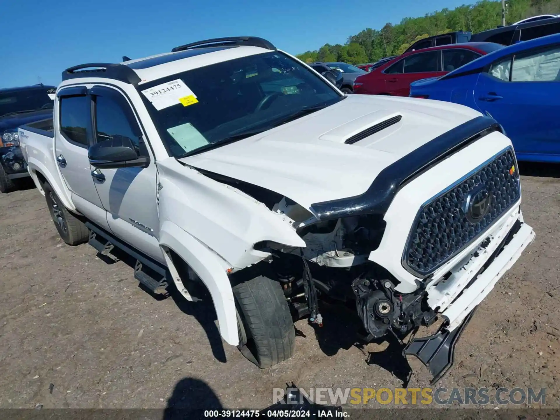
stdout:
{"type": "Polygon", "coordinates": [[[242,323],[238,328],[241,353],[260,368],[289,359],[296,347],[296,333],[280,283],[259,276],[236,284],[233,290],[242,323]]]}

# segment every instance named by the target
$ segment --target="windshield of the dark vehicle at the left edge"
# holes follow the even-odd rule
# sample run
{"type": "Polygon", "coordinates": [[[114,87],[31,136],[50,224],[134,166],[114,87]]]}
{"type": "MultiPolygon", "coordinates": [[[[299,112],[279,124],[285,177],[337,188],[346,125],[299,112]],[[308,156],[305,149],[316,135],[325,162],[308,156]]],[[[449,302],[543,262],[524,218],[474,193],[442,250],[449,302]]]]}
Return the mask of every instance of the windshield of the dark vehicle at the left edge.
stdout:
{"type": "Polygon", "coordinates": [[[45,87],[0,93],[0,116],[53,109],[56,88],[45,87]]]}

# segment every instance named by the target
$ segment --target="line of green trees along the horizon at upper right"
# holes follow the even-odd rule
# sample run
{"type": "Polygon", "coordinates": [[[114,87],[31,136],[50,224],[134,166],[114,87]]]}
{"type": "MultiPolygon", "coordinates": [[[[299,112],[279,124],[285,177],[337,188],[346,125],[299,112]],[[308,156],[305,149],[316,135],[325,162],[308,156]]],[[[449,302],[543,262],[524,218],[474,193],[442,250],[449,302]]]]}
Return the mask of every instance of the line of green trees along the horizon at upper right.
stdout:
{"type": "MultiPolygon", "coordinates": [[[[560,0],[506,0],[506,25],[525,17],[544,13],[560,14],[560,0]]],[[[473,34],[492,29],[502,23],[501,0],[483,0],[447,8],[422,17],[405,17],[399,24],[386,23],[381,29],[366,28],[351,35],[344,45],[325,44],[316,51],[297,57],[307,63],[342,61],[350,64],[373,63],[383,57],[399,55],[415,41],[453,31],[473,34]]]]}

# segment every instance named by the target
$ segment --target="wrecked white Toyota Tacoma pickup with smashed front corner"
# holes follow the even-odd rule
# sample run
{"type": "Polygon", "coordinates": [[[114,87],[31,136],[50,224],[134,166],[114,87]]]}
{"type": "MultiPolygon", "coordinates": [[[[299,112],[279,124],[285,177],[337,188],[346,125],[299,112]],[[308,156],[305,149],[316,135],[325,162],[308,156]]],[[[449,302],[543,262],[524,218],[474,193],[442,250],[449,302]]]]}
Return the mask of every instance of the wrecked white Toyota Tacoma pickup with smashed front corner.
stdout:
{"type": "Polygon", "coordinates": [[[254,37],[83,64],[21,148],[67,244],[124,250],[151,290],[203,285],[259,367],[292,355],[293,319],[322,325],[328,296],[356,305],[366,340],[440,315],[404,348],[436,381],[534,238],[511,141],[465,106],[325,77],[254,37]]]}

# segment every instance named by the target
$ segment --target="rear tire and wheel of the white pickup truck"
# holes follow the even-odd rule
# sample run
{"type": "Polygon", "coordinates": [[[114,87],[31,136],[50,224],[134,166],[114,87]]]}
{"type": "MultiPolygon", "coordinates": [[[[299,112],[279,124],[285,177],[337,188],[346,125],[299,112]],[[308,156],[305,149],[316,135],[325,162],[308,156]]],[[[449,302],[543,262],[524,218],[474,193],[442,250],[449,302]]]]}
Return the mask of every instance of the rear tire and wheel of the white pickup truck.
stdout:
{"type": "Polygon", "coordinates": [[[72,246],[87,242],[90,237],[90,231],[86,225],[64,207],[58,195],[53,191],[52,186],[45,183],[43,190],[50,217],[52,217],[54,226],[57,227],[58,234],[62,240],[72,246]]]}

